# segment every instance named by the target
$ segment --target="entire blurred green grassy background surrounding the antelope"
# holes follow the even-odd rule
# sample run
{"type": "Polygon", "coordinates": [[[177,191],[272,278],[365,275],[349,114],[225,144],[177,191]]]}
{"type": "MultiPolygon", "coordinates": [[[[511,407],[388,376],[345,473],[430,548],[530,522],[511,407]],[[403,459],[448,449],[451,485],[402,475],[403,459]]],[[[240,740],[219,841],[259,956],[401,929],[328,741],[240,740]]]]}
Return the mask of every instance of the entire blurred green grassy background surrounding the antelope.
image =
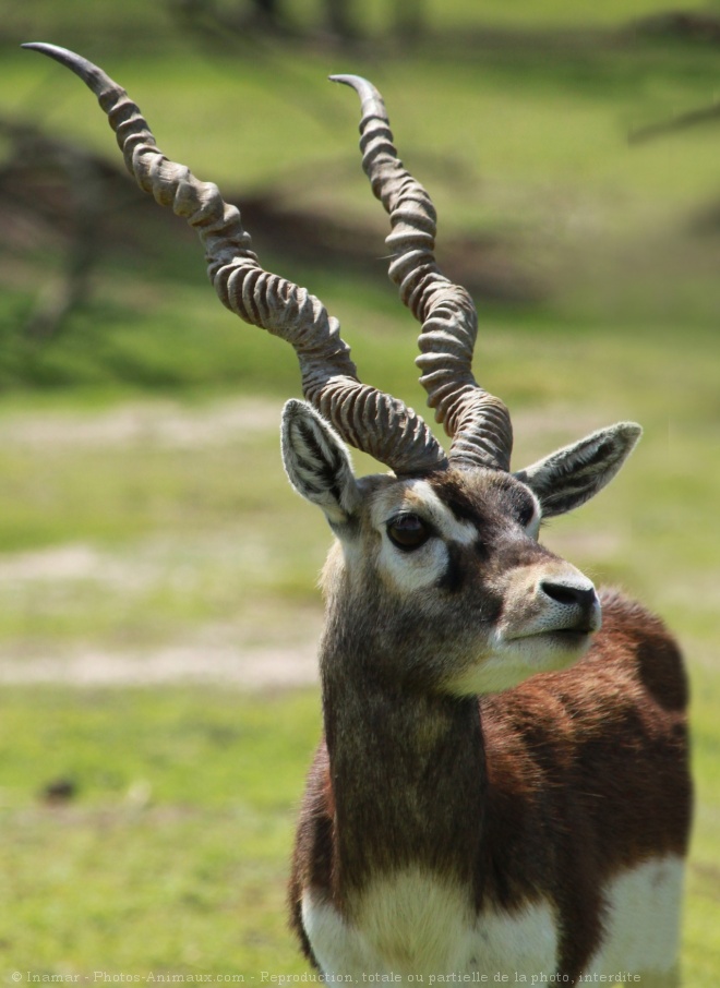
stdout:
{"type": "MultiPolygon", "coordinates": [[[[720,5],[649,0],[0,3],[0,978],[257,977],[285,928],[320,730],[322,518],[285,481],[296,361],[226,312],[121,171],[101,64],[163,149],[243,208],[266,267],[422,407],[357,150],[382,89],[480,313],[523,466],[645,437],[545,541],[658,611],[693,684],[685,985],[720,975],[720,5]],[[689,117],[687,116],[689,115],[689,117]]],[[[373,469],[367,458],[357,466],[373,469]]],[[[13,983],[14,984],[14,983],[13,983]]]]}

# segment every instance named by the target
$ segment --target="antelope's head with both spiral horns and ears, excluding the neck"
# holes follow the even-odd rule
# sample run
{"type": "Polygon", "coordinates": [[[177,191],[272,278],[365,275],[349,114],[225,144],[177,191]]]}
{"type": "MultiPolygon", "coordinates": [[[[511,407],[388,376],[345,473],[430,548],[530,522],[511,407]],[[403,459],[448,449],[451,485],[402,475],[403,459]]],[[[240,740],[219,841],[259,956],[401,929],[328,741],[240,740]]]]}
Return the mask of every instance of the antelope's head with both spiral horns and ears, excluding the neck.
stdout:
{"type": "Polygon", "coordinates": [[[587,577],[538,543],[540,521],[597,494],[640,429],[617,423],[511,470],[508,411],[471,371],[472,300],[435,263],[434,208],[398,159],[377,91],[333,76],[362,101],[363,168],[389,215],[389,276],[421,325],[420,381],[451,438],[447,454],[412,409],[360,382],[338,322],[261,267],[239,210],[163,155],[120,86],[65,49],[26,47],[96,94],[140,186],[197,230],[221,302],[297,352],[307,400],[285,406],[283,457],[292,486],[336,535],[324,577],[327,661],[356,656],[363,674],[453,696],[574,662],[600,627],[600,604],[587,577]],[[346,444],[391,472],[358,479],[346,444]]]}

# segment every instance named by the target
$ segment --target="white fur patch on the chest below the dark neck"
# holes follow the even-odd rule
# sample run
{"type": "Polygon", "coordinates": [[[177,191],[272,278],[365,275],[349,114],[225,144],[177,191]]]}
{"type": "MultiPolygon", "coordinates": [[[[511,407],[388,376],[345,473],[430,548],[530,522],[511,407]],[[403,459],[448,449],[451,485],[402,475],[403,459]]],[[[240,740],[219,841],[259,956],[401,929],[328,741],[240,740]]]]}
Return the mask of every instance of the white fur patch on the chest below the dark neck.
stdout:
{"type": "MultiPolygon", "coordinates": [[[[374,882],[352,905],[352,924],[309,892],[302,920],[313,951],[327,976],[368,973],[422,975],[497,972],[551,975],[556,967],[556,931],[548,904],[515,913],[475,916],[465,890],[439,882],[419,869],[374,882]]],[[[425,981],[427,984],[427,981],[425,981]]]]}

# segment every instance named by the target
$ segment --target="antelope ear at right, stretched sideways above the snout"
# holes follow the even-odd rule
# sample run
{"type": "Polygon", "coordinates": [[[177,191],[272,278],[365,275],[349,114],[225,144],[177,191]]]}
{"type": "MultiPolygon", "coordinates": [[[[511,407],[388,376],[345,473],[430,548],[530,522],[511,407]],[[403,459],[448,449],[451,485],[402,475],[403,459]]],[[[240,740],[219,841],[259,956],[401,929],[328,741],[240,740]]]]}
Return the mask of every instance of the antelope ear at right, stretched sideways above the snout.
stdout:
{"type": "Polygon", "coordinates": [[[643,430],[617,422],[515,473],[538,496],[545,518],[585,504],[609,483],[635,448],[643,430]]]}

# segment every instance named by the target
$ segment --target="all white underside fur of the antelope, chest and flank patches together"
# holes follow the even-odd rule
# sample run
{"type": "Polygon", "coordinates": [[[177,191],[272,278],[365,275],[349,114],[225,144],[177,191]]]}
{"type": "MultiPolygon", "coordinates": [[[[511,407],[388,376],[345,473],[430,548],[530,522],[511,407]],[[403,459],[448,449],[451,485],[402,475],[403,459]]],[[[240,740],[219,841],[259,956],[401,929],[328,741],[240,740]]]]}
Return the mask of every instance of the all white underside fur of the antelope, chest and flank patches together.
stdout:
{"type": "MultiPolygon", "coordinates": [[[[609,884],[605,939],[586,975],[627,972],[640,975],[646,988],[673,984],[682,876],[682,860],[671,857],[609,884]]],[[[507,975],[506,984],[537,985],[556,971],[556,917],[547,901],[473,916],[464,890],[411,869],[373,883],[352,915],[350,925],[319,895],[303,896],[303,925],[327,977],[362,983],[363,975],[394,975],[408,984],[422,975],[425,984],[442,984],[467,974],[493,984],[507,975]]]]}

